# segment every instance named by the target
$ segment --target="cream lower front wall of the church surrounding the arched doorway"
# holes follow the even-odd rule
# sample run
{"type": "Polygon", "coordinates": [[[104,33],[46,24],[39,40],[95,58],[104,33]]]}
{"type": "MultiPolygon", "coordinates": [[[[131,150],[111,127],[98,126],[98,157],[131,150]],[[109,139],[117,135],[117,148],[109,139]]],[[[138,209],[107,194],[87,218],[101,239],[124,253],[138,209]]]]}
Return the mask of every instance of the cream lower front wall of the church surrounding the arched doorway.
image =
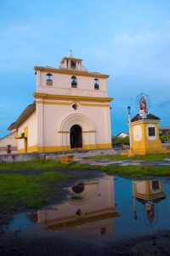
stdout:
{"type": "MultiPolygon", "coordinates": [[[[54,101],[50,101],[55,103],[54,101]]],[[[44,102],[43,102],[44,103],[44,102]]],[[[67,102],[68,103],[68,102],[67,102]]],[[[82,132],[85,129],[86,124],[80,121],[79,116],[87,117],[89,122],[93,124],[95,131],[95,141],[91,140],[91,143],[105,144],[111,143],[111,120],[110,120],[110,108],[109,107],[92,107],[92,103],[86,102],[86,106],[81,105],[79,102],[77,110],[72,108],[72,102],[70,105],[55,105],[55,104],[37,104],[38,113],[38,145],[39,146],[59,146],[59,131],[60,125],[64,119],[70,115],[75,114],[74,124],[82,125],[82,132]],[[78,117],[76,117],[76,115],[78,117]],[[43,127],[43,128],[42,128],[43,127]],[[43,141],[43,142],[42,142],[43,141]]],[[[65,131],[70,131],[71,127],[68,127],[65,131]]],[[[87,129],[87,128],[86,128],[87,129]]],[[[92,129],[92,128],[90,128],[92,129]]],[[[89,144],[90,134],[82,133],[83,143],[89,144]],[[86,139],[87,138],[87,139],[86,139]]]]}

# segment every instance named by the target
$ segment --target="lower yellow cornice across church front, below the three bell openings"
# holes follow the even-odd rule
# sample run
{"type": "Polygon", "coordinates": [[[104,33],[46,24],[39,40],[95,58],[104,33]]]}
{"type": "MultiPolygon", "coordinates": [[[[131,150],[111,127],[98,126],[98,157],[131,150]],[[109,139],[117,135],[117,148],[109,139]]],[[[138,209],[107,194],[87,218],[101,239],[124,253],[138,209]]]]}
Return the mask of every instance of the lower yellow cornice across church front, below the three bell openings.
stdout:
{"type": "Polygon", "coordinates": [[[111,102],[111,97],[93,97],[93,96],[68,96],[68,95],[55,95],[48,93],[35,92],[32,96],[36,99],[45,100],[59,100],[59,101],[79,101],[79,102],[111,102]]]}

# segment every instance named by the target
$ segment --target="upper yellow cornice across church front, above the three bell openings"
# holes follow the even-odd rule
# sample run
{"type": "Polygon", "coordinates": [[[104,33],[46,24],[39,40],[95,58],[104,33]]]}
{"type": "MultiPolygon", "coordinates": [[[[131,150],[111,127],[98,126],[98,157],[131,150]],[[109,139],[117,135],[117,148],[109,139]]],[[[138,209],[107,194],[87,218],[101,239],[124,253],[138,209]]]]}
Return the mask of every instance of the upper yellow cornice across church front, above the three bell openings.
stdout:
{"type": "Polygon", "coordinates": [[[83,77],[91,77],[91,78],[99,78],[99,79],[108,79],[109,75],[101,74],[101,73],[88,73],[87,71],[77,71],[70,69],[58,69],[54,67],[34,67],[35,71],[41,71],[46,73],[62,73],[68,75],[75,76],[83,76],[83,77]]]}

